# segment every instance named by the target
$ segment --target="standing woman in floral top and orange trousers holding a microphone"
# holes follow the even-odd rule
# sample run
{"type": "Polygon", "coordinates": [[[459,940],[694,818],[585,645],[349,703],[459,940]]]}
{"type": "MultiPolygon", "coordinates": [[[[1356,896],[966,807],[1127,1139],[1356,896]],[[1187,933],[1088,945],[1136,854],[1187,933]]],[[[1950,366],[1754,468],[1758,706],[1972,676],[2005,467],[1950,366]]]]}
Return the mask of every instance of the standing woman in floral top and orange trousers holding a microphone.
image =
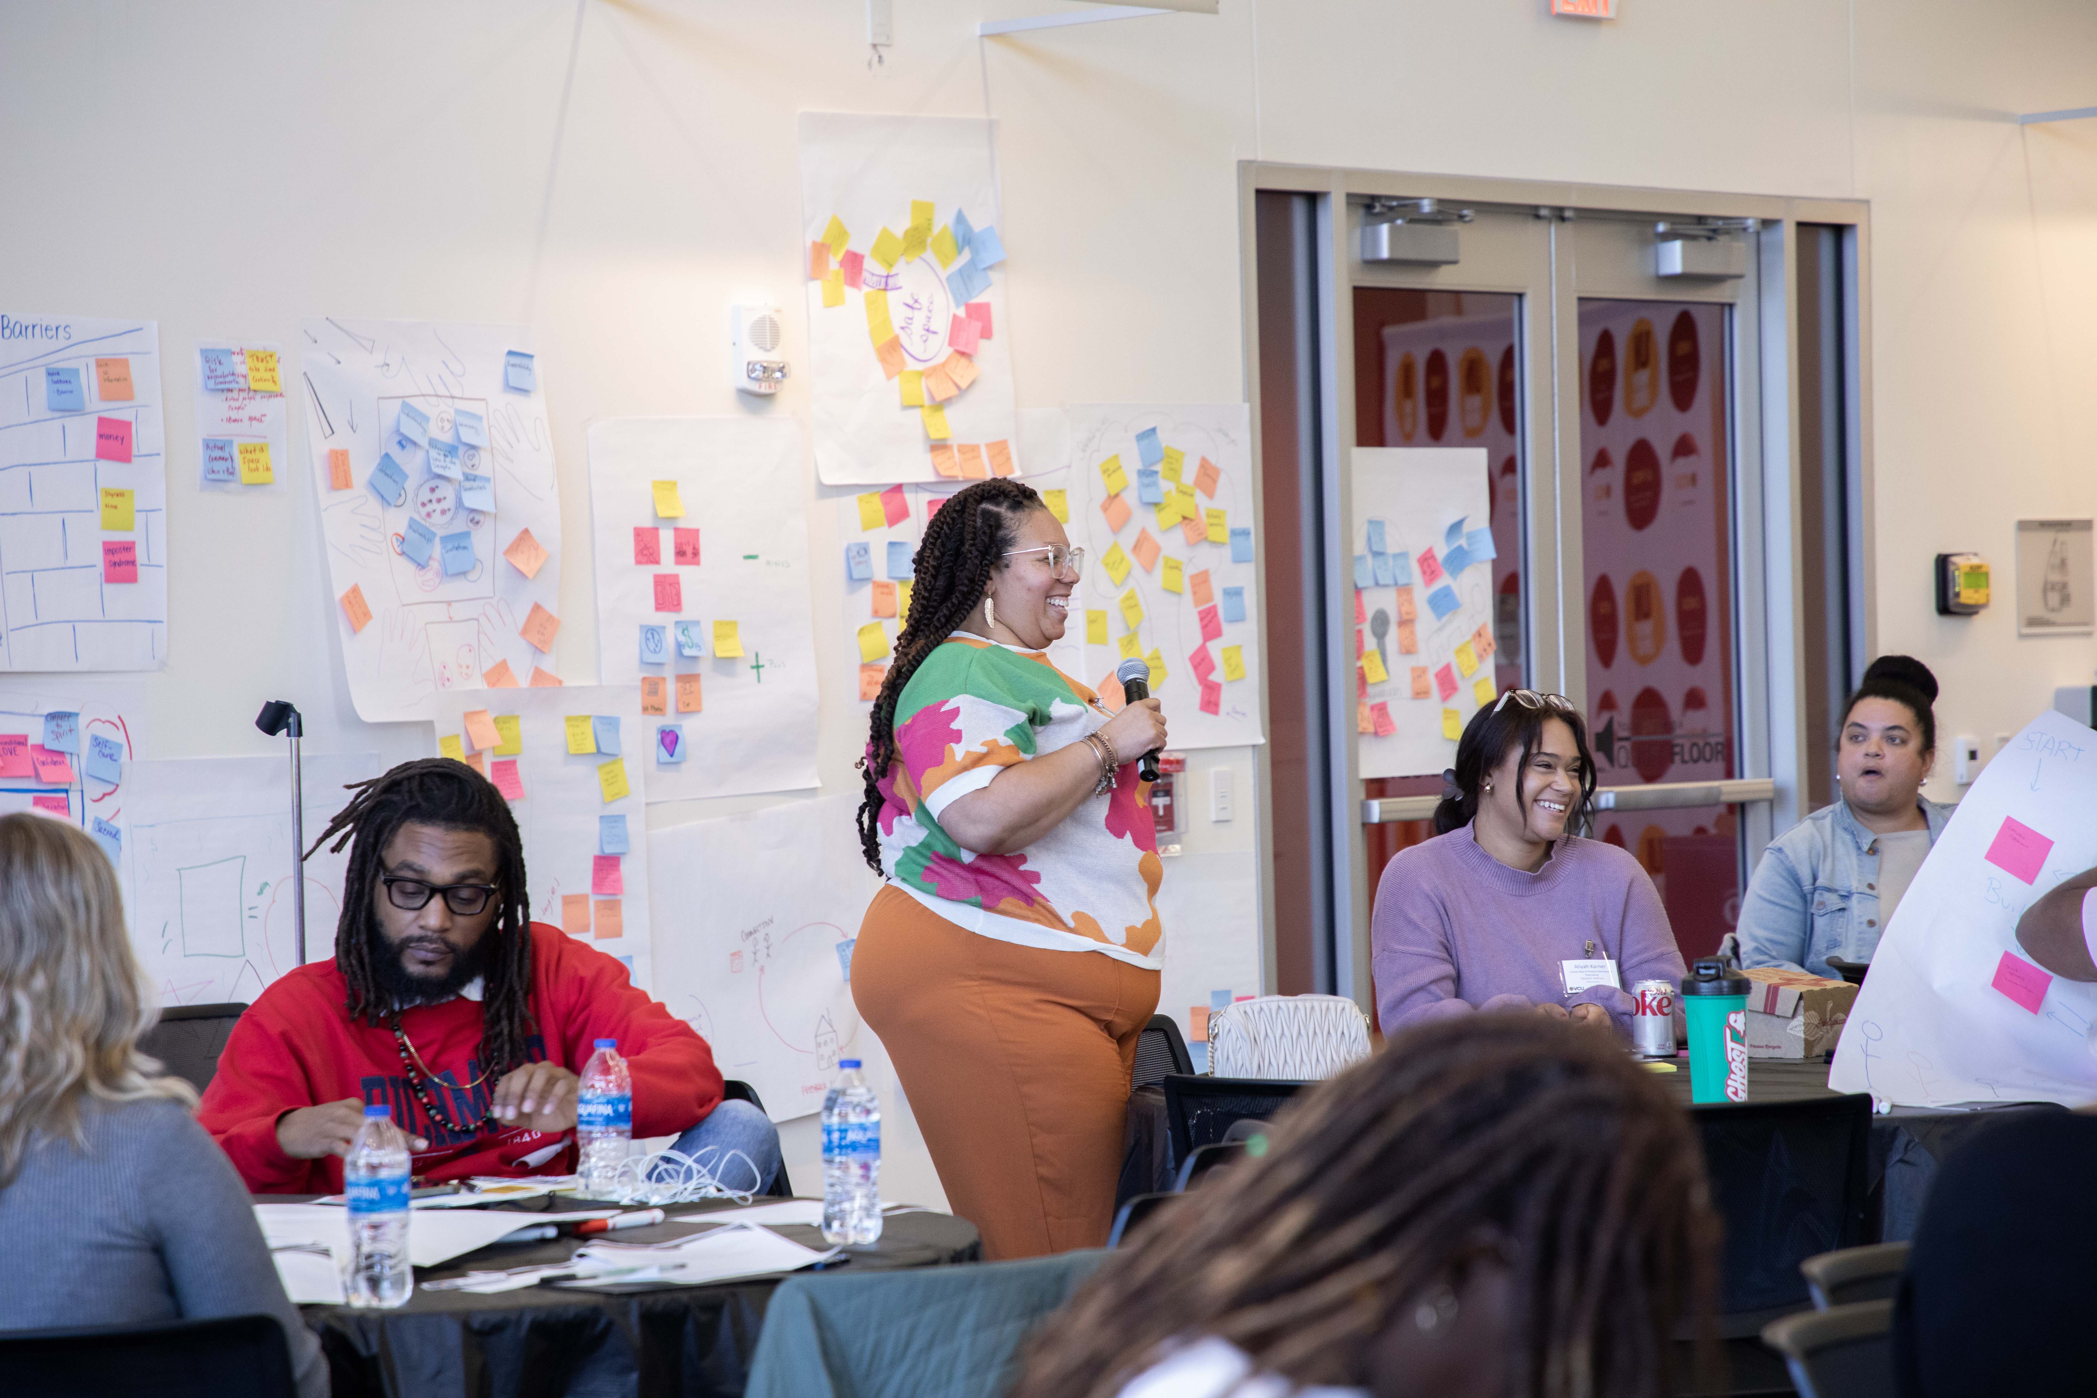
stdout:
{"type": "Polygon", "coordinates": [[[1044,654],[1084,566],[1040,495],[983,480],[925,526],[874,700],[860,840],[887,882],[851,956],[954,1211],[988,1258],[1099,1247],[1137,1035],[1158,1008],[1158,838],[1109,715],[1044,654]]]}

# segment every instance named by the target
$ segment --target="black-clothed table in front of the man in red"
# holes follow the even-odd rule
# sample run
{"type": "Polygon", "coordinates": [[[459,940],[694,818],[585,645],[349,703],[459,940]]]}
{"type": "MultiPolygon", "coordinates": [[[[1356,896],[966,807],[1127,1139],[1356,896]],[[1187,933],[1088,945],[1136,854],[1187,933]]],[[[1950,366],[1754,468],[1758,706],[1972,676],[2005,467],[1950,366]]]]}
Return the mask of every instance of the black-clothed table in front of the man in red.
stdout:
{"type": "MultiPolygon", "coordinates": [[[[291,1199],[271,1195],[264,1201],[291,1199]]],[[[533,1211],[591,1205],[560,1199],[503,1207],[516,1209],[518,1226],[524,1226],[533,1211]]],[[[671,1205],[669,1211],[690,1218],[717,1207],[728,1205],[671,1205]]],[[[776,1228],[795,1243],[826,1247],[820,1228],[776,1228]]],[[[692,1230],[658,1224],[623,1228],[614,1237],[621,1243],[667,1243],[692,1237],[692,1230]]],[[[784,1274],[617,1293],[526,1287],[472,1295],[421,1289],[426,1281],[474,1268],[564,1262],[577,1247],[577,1239],[560,1237],[482,1247],[440,1268],[417,1268],[415,1295],[398,1310],[302,1306],[306,1327],[327,1352],[336,1398],[742,1394],[765,1306],[784,1274]]],[[[883,1222],[879,1243],[847,1249],[828,1268],[883,1272],[979,1258],[981,1241],[967,1220],[948,1214],[893,1214],[883,1222]]]]}

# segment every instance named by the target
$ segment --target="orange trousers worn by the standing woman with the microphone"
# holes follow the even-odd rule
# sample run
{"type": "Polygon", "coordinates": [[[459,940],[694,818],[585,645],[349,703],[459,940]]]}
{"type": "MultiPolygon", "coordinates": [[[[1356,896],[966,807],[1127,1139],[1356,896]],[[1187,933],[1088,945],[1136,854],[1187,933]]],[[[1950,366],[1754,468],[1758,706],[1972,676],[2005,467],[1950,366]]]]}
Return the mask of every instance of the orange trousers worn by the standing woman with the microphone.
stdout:
{"type": "Polygon", "coordinates": [[[981,937],[889,884],[860,926],[851,998],[988,1260],[1105,1245],[1155,970],[981,937]]]}

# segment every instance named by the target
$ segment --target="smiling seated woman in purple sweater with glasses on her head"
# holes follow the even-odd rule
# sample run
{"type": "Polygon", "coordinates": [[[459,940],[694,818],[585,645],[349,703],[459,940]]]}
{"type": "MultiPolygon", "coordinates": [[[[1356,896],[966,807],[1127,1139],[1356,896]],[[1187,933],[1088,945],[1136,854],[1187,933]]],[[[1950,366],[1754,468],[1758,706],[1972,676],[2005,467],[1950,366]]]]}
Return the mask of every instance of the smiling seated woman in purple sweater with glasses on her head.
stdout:
{"type": "Polygon", "coordinates": [[[1629,985],[1682,979],[1661,895],[1587,824],[1594,755],[1562,694],[1510,690],[1472,715],[1436,836],[1384,866],[1369,926],[1384,1033],[1529,1010],[1629,1037],[1629,985]]]}

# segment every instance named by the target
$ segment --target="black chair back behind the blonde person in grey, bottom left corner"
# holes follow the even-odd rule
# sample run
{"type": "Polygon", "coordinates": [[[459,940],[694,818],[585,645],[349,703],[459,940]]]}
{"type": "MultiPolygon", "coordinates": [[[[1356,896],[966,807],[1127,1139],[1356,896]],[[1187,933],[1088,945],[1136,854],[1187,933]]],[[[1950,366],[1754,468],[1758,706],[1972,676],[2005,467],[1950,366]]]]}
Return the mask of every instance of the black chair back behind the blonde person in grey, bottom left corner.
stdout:
{"type": "Polygon", "coordinates": [[[294,1398],[277,1316],[0,1335],[8,1398],[294,1398]]]}

